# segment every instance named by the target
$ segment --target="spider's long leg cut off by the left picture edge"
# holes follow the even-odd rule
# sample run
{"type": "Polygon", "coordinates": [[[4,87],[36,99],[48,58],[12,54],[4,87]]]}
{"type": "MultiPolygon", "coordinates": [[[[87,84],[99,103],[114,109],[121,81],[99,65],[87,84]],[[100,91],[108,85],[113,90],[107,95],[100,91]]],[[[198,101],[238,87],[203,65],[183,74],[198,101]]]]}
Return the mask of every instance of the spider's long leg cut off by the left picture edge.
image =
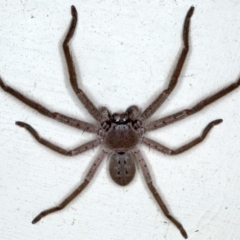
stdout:
{"type": "Polygon", "coordinates": [[[28,105],[29,107],[37,110],[39,113],[49,117],[49,118],[53,118],[59,122],[65,123],[69,126],[78,128],[78,129],[82,129],[84,131],[87,132],[93,132],[96,133],[98,128],[97,126],[91,124],[91,123],[87,123],[87,122],[83,122],[81,120],[77,120],[77,119],[73,119],[70,117],[67,117],[63,114],[57,113],[57,112],[51,112],[49,111],[47,108],[43,107],[42,105],[40,105],[39,103],[30,100],[29,98],[23,96],[20,92],[18,92],[17,90],[5,85],[5,83],[3,82],[3,80],[0,78],[0,87],[7,93],[11,94],[12,96],[14,96],[15,98],[17,98],[18,100],[20,100],[21,102],[25,103],[26,105],[28,105]]]}

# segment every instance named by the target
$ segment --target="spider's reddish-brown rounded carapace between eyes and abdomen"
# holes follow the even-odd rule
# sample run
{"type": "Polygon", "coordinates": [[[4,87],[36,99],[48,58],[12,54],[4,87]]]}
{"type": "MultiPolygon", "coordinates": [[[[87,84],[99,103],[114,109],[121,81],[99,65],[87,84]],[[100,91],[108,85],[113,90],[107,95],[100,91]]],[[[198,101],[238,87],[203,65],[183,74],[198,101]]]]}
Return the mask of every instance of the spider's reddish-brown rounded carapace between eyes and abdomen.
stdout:
{"type": "Polygon", "coordinates": [[[137,132],[128,124],[114,125],[105,136],[105,145],[117,152],[126,152],[138,143],[137,132]]]}

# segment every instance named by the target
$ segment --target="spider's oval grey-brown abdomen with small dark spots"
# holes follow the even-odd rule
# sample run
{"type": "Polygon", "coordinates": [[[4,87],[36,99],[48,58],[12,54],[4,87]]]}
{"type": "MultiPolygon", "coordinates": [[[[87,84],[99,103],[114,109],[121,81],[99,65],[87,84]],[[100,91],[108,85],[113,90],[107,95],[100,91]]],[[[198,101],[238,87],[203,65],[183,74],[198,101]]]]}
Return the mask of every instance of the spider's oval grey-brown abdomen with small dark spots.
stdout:
{"type": "Polygon", "coordinates": [[[110,157],[109,172],[115,183],[121,186],[129,184],[135,175],[135,164],[130,153],[113,153],[110,157]]]}

